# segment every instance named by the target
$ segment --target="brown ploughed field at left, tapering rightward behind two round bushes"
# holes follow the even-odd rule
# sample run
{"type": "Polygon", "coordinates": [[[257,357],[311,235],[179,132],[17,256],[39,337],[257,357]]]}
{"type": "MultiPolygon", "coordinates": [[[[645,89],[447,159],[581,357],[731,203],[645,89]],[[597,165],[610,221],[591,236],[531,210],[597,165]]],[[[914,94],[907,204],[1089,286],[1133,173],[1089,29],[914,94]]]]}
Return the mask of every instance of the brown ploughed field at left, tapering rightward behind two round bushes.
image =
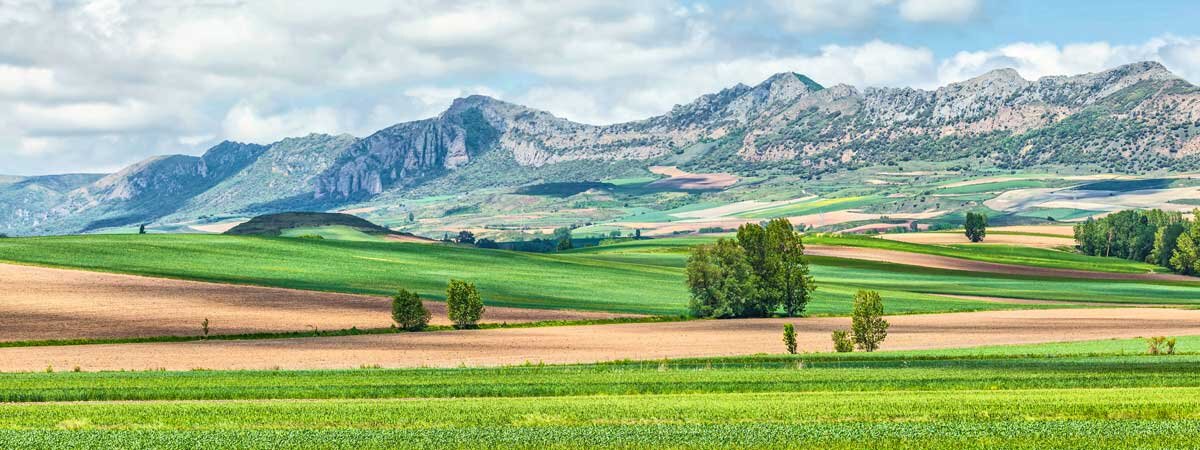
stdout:
{"type": "MultiPolygon", "coordinates": [[[[370,295],[202,283],[0,264],[0,341],[194,336],[391,325],[391,302],[370,295]]],[[[445,304],[428,301],[448,325],[445,304]]],[[[487,307],[485,322],[599,319],[617,314],[487,307]]]]}

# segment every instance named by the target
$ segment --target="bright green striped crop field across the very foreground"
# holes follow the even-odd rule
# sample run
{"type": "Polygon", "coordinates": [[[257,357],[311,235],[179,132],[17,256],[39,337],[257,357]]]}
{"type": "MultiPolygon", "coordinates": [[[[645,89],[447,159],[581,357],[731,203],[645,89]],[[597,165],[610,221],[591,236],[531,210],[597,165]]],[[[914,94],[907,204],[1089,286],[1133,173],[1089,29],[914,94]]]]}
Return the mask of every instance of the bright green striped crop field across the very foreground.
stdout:
{"type": "MultiPolygon", "coordinates": [[[[1180,346],[1196,343],[1184,338],[1180,346]]],[[[978,353],[456,370],[0,374],[0,446],[1200,445],[1200,355],[1122,354],[1140,346],[1123,340],[978,353]],[[1074,355],[1080,352],[1094,355],[1074,355]],[[92,402],[50,402],[59,400],[92,402]]]]}

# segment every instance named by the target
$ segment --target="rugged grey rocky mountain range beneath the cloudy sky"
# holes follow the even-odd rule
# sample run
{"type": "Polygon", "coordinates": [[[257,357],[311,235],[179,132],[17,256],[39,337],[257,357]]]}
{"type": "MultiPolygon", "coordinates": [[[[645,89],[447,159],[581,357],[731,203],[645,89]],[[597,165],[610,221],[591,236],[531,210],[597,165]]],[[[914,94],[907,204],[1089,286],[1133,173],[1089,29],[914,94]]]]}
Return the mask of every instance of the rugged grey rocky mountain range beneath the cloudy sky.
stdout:
{"type": "Polygon", "coordinates": [[[659,164],[802,178],[913,160],[1145,173],[1195,169],[1198,154],[1200,89],[1157,62],[1037,80],[1006,68],[936,90],[827,88],[779,73],[623,124],[469,96],[364,138],[223,142],[113,174],[0,176],[0,233],[328,210],[385,194],[599,181],[659,164]]]}

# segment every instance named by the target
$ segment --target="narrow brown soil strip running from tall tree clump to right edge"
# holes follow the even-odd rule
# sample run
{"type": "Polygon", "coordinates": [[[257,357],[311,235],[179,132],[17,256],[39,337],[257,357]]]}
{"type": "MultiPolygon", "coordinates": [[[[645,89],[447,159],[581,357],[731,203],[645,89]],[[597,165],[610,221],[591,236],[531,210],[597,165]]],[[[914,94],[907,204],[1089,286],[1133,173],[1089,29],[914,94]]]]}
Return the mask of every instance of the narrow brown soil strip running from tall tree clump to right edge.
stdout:
{"type": "Polygon", "coordinates": [[[1136,281],[1187,281],[1198,282],[1200,278],[1176,275],[1176,274],[1112,274],[1096,272],[1090,270],[1036,268],[1031,265],[1013,265],[988,263],[982,260],[950,258],[936,254],[910,253],[894,250],[881,250],[869,247],[839,247],[824,245],[804,246],[804,253],[818,257],[834,257],[847,259],[875,260],[881,263],[917,265],[922,268],[965,270],[972,272],[990,272],[1022,276],[1043,276],[1058,278],[1085,278],[1085,280],[1136,280],[1136,281]]]}

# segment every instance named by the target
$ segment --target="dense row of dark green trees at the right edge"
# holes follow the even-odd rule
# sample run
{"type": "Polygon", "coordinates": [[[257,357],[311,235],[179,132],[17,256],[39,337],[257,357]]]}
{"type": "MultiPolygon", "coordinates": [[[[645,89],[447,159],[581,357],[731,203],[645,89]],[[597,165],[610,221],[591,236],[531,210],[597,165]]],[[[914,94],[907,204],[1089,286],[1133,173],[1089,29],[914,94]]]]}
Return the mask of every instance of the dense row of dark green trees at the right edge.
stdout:
{"type": "MultiPolygon", "coordinates": [[[[1200,209],[1193,211],[1193,216],[1200,209]]],[[[1141,260],[1184,275],[1200,274],[1200,222],[1182,212],[1126,210],[1075,226],[1085,254],[1141,260]]]]}

